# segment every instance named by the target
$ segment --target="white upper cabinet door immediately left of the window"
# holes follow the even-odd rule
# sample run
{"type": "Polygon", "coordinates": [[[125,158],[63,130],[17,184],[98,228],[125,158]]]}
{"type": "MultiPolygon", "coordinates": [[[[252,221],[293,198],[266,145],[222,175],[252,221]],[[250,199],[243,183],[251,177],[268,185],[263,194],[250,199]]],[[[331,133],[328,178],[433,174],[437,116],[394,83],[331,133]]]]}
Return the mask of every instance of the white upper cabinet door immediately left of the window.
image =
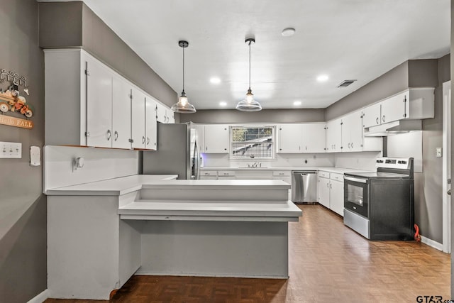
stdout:
{"type": "Polygon", "coordinates": [[[228,153],[229,131],[228,125],[224,124],[207,124],[204,127],[204,145],[203,153],[228,153]]]}

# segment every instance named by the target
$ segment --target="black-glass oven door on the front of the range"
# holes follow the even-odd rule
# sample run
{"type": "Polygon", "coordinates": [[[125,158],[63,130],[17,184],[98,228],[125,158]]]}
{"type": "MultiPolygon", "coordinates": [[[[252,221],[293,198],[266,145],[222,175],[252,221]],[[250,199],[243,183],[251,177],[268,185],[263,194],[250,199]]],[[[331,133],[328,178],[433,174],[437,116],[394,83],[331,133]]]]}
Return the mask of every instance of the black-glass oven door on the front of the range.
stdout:
{"type": "Polygon", "coordinates": [[[367,197],[369,192],[369,181],[367,178],[351,177],[345,175],[343,206],[356,214],[369,217],[367,211],[367,197]]]}

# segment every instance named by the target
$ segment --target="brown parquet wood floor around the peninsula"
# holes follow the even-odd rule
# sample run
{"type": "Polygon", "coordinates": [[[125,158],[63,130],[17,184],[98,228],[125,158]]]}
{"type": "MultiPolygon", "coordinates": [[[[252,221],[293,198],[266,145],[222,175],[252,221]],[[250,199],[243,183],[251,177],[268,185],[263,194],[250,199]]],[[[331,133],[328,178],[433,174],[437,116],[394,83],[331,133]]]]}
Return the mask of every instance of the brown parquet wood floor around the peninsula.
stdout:
{"type": "Polygon", "coordinates": [[[289,224],[288,280],[133,276],[111,302],[418,302],[417,296],[431,295],[450,299],[449,255],[414,241],[367,241],[323,206],[299,207],[303,216],[289,224]]]}

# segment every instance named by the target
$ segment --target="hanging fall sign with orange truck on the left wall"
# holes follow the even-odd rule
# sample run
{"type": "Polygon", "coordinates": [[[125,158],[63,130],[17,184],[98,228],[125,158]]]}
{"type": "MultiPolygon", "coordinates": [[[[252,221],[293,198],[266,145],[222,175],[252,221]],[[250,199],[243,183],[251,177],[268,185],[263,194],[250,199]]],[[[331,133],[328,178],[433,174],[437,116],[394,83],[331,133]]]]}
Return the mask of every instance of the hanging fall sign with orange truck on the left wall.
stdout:
{"type": "Polygon", "coordinates": [[[23,87],[23,92],[28,92],[26,77],[19,76],[17,72],[2,69],[0,70],[0,83],[9,82],[9,87],[0,89],[0,124],[15,126],[20,128],[33,128],[33,121],[30,120],[33,116],[33,108],[27,104],[25,97],[21,96],[19,86],[23,87]],[[11,113],[23,115],[26,119],[11,116],[11,113]],[[9,114],[9,115],[8,115],[9,114]]]}

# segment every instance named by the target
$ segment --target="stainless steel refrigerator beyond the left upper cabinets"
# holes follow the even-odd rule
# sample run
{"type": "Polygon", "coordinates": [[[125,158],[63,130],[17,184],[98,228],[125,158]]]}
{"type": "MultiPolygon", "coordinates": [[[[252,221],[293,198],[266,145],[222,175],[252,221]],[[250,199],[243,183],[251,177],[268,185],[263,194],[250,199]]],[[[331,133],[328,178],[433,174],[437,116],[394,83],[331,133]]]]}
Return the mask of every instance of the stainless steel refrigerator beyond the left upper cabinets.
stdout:
{"type": "Polygon", "coordinates": [[[143,152],[144,175],[178,175],[177,179],[199,179],[199,150],[196,125],[157,123],[157,150],[143,152]]]}

